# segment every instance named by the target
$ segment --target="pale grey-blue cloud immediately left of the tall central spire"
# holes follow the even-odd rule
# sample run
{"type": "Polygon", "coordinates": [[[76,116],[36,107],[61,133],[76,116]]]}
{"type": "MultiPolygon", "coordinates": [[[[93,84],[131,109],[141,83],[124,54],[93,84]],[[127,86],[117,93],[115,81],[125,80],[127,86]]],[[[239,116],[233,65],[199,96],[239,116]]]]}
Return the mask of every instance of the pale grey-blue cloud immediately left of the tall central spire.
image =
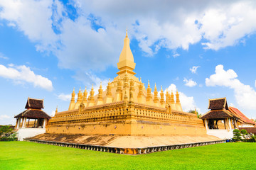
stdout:
{"type": "Polygon", "coordinates": [[[64,47],[55,50],[60,67],[74,69],[75,65],[83,71],[102,71],[109,65],[117,64],[124,31],[113,27],[95,31],[85,16],[80,16],[76,21],[66,19],[62,25],[60,40],[64,47]]]}

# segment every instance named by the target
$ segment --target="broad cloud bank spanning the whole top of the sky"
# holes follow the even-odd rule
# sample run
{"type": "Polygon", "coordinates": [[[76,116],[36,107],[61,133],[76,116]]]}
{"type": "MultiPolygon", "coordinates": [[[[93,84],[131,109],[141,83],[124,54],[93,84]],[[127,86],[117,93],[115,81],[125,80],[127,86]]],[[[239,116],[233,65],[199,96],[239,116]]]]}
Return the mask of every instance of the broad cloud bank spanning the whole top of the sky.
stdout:
{"type": "Polygon", "coordinates": [[[87,72],[116,66],[127,27],[129,38],[149,56],[161,48],[188,50],[201,40],[206,49],[218,50],[256,30],[256,3],[249,0],[75,0],[69,6],[72,12],[58,0],[0,0],[0,18],[35,42],[37,50],[53,52],[59,67],[87,72]]]}

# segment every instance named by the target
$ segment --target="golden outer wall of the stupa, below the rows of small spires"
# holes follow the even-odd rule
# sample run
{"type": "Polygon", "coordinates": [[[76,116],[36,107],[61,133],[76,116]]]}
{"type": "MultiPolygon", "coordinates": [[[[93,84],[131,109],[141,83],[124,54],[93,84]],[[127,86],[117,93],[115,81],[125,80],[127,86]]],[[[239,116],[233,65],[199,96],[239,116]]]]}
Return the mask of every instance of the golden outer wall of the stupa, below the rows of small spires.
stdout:
{"type": "Polygon", "coordinates": [[[206,135],[203,121],[193,113],[170,112],[166,108],[128,101],[81,107],[55,115],[46,132],[85,135],[206,135]]]}

